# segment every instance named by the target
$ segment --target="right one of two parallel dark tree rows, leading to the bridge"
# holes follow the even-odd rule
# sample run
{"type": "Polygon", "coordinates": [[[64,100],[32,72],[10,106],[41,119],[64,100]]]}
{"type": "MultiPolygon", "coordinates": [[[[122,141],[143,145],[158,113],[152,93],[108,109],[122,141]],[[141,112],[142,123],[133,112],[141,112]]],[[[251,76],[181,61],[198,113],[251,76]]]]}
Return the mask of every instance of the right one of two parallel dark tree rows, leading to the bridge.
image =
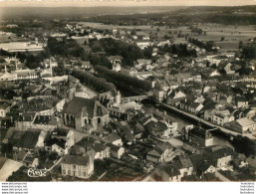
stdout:
{"type": "Polygon", "coordinates": [[[95,70],[101,77],[114,83],[118,88],[137,90],[139,93],[146,93],[151,89],[151,83],[149,81],[142,81],[126,74],[114,72],[103,66],[96,66],[95,70]]]}

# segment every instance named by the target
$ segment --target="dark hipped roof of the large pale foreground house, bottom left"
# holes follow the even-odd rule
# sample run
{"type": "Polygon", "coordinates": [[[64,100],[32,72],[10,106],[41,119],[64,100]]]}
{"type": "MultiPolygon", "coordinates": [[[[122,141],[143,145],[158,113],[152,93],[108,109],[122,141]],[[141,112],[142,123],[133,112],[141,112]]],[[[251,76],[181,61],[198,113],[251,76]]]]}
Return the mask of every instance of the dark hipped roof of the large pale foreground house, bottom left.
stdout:
{"type": "Polygon", "coordinates": [[[89,154],[86,154],[85,156],[65,155],[62,159],[62,163],[87,166],[90,164],[90,155],[89,154]]]}

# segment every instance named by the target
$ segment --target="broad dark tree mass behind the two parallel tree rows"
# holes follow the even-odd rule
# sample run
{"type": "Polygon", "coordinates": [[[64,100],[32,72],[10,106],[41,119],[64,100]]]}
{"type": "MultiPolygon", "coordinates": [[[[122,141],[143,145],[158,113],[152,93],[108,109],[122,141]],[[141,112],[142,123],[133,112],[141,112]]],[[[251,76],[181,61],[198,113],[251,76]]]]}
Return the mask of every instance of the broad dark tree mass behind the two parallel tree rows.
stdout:
{"type": "Polygon", "coordinates": [[[93,52],[106,52],[109,56],[122,56],[125,66],[133,66],[133,61],[143,58],[143,52],[135,45],[114,39],[93,39],[89,43],[93,52]]]}

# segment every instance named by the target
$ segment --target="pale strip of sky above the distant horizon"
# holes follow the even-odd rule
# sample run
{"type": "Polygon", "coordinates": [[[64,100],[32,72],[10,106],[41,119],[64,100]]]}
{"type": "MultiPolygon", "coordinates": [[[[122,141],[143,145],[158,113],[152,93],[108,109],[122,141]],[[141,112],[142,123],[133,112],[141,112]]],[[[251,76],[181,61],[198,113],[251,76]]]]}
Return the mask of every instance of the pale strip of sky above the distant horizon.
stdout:
{"type": "Polygon", "coordinates": [[[0,7],[239,6],[256,0],[0,0],[0,7]]]}

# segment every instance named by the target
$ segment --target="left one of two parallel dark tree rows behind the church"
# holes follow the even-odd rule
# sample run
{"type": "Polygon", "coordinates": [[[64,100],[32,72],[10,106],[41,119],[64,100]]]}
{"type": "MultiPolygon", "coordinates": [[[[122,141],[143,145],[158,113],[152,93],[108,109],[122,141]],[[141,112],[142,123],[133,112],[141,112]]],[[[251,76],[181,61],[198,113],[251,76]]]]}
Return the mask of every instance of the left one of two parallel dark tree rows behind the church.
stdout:
{"type": "Polygon", "coordinates": [[[79,68],[74,68],[72,75],[98,93],[117,92],[117,88],[114,84],[108,83],[105,79],[97,78],[86,71],[80,70],[79,68]]]}

